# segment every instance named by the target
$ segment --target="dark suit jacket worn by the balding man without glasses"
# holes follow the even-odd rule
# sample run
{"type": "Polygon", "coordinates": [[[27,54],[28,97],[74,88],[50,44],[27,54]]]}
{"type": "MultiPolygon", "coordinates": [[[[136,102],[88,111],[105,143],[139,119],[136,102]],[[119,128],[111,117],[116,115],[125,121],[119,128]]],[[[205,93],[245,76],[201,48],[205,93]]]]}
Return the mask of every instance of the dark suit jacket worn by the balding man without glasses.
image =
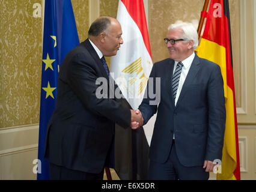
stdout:
{"type": "Polygon", "coordinates": [[[108,79],[87,39],[67,53],[59,71],[56,109],[46,138],[50,163],[100,173],[113,145],[114,123],[129,127],[130,108],[123,99],[96,97],[98,77],[108,79]]]}

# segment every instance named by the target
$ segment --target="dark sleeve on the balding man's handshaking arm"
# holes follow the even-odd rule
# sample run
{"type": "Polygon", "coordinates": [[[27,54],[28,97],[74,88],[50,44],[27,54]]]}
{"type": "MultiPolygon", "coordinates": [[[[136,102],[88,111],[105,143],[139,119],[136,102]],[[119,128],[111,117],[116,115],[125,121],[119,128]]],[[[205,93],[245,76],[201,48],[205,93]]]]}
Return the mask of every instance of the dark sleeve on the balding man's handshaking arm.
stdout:
{"type": "MultiPolygon", "coordinates": [[[[99,74],[96,72],[95,64],[90,64],[87,61],[88,58],[83,53],[77,54],[72,59],[67,75],[70,87],[78,95],[86,109],[97,115],[105,116],[122,127],[129,127],[131,115],[127,106],[115,101],[114,98],[109,98],[108,94],[105,97],[96,96],[96,91],[99,91],[98,88],[101,86],[96,84],[99,74]]],[[[109,90],[109,85],[106,85],[105,88],[109,90]]]]}

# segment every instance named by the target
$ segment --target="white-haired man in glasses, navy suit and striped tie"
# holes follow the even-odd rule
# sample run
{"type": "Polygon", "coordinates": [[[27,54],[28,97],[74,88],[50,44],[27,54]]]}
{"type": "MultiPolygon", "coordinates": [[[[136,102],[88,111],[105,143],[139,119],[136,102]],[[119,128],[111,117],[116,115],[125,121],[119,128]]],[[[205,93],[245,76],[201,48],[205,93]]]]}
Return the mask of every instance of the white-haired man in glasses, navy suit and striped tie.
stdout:
{"type": "Polygon", "coordinates": [[[160,87],[148,81],[160,101],[158,106],[150,105],[152,98],[145,92],[136,111],[144,124],[157,112],[149,179],[209,179],[213,161],[222,158],[224,142],[221,69],[194,53],[198,34],[191,23],[170,25],[164,40],[170,58],[156,62],[150,74],[154,81],[160,77],[160,87]]]}

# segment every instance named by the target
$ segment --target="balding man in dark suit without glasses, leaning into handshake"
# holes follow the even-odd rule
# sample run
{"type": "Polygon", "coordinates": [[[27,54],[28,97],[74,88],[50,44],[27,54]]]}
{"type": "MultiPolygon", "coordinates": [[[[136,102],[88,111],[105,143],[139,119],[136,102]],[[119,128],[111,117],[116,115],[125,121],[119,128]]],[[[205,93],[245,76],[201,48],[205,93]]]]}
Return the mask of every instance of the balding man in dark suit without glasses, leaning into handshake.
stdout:
{"type": "Polygon", "coordinates": [[[104,56],[117,54],[121,35],[116,19],[100,17],[90,26],[88,39],[62,62],[56,109],[47,128],[50,179],[103,179],[106,164],[114,164],[115,122],[122,127],[139,123],[141,117],[123,98],[110,97],[115,90],[104,56]],[[99,77],[107,82],[103,88],[99,77]]]}

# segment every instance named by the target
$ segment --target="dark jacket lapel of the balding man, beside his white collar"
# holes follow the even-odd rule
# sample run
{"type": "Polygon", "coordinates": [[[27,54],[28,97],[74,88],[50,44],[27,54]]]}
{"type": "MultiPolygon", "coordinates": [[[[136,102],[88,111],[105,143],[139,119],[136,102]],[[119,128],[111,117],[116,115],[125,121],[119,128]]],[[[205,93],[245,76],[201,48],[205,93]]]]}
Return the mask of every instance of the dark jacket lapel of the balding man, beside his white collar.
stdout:
{"type": "Polygon", "coordinates": [[[85,47],[87,48],[88,52],[93,57],[94,61],[96,62],[96,65],[100,68],[100,71],[102,72],[103,77],[105,77],[109,82],[109,77],[108,77],[108,74],[106,73],[105,68],[103,67],[102,61],[100,61],[99,55],[97,54],[96,50],[91,45],[89,39],[87,38],[87,40],[85,40],[83,43],[84,43],[85,47]]]}

